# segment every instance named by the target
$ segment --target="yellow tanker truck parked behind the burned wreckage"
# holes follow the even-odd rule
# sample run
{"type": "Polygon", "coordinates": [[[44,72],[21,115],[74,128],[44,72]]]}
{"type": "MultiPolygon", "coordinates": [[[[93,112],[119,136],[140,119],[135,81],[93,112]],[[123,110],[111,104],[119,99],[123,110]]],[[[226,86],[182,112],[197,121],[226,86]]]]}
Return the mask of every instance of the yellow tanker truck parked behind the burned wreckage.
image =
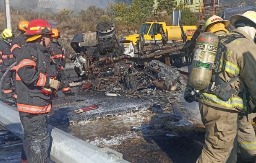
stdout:
{"type": "MultiPolygon", "coordinates": [[[[183,26],[183,30],[188,40],[191,40],[196,31],[196,26],[183,26]]],[[[162,31],[165,32],[168,41],[183,41],[180,26],[166,26],[165,22],[149,21],[141,25],[138,34],[125,36],[123,40],[132,41],[133,45],[139,38],[139,35],[144,33],[145,40],[162,40],[162,31]],[[156,29],[156,30],[155,30],[156,29]]]]}

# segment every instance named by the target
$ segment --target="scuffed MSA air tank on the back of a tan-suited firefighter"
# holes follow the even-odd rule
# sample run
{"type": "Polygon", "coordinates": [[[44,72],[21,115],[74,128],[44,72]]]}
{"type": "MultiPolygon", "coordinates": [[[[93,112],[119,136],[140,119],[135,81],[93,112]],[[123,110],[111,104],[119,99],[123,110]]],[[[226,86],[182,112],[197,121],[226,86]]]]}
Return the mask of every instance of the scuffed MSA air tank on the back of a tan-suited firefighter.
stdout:
{"type": "Polygon", "coordinates": [[[204,32],[197,38],[191,72],[188,78],[189,85],[196,92],[205,89],[210,84],[218,44],[219,38],[211,32],[204,32]]]}

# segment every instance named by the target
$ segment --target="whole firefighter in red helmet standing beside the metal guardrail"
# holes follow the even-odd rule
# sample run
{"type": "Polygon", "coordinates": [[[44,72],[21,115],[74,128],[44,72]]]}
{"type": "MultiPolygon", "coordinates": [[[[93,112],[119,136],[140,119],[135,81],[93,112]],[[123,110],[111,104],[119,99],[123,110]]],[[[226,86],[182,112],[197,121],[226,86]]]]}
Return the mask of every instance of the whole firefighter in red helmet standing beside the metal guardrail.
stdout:
{"type": "Polygon", "coordinates": [[[23,149],[28,163],[46,163],[50,135],[47,113],[52,107],[52,91],[60,82],[53,79],[56,71],[50,65],[51,24],[32,20],[26,42],[17,56],[17,109],[24,129],[23,149]]]}

